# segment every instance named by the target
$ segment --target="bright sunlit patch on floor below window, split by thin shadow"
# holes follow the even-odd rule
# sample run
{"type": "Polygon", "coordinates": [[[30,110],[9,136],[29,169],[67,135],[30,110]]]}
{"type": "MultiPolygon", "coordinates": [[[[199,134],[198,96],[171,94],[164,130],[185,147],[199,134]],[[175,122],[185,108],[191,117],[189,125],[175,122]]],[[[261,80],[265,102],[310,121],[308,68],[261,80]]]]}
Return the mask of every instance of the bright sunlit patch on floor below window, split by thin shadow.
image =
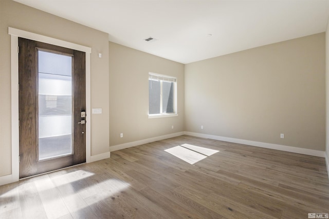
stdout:
{"type": "Polygon", "coordinates": [[[219,151],[190,144],[182,144],[165,150],[189,164],[195,164],[219,151]]]}

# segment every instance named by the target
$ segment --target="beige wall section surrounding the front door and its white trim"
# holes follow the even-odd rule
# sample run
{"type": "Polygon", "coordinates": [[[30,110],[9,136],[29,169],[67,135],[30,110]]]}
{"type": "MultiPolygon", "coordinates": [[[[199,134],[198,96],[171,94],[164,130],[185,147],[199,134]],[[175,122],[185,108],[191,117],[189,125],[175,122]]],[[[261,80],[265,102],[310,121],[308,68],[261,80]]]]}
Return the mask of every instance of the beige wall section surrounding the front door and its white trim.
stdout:
{"type": "MultiPolygon", "coordinates": [[[[10,1],[0,0],[0,176],[11,174],[10,35],[13,27],[91,47],[92,155],[109,151],[108,34],[10,1]],[[102,53],[102,58],[98,57],[102,53]]],[[[90,116],[90,113],[88,114],[90,116]]]]}

